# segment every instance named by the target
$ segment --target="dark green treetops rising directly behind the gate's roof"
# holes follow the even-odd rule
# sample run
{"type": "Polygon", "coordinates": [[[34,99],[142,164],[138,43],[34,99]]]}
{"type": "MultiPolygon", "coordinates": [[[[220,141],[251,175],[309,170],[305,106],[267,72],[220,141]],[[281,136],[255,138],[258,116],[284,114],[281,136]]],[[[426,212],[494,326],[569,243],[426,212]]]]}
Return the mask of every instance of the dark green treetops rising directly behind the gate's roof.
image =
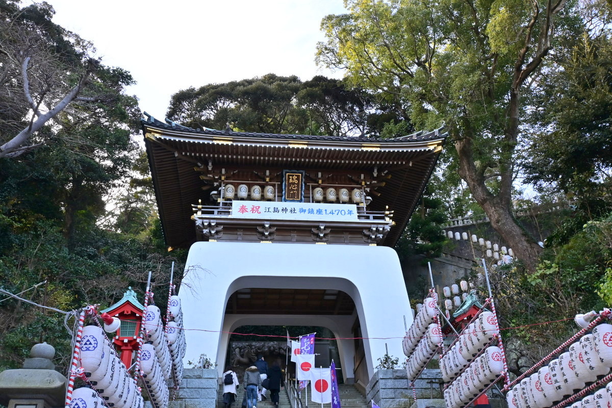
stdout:
{"type": "Polygon", "coordinates": [[[194,128],[223,129],[229,124],[244,132],[336,136],[378,133],[384,126],[381,117],[405,119],[392,106],[374,100],[345,81],[315,76],[302,82],[297,76],[270,73],[183,89],[172,96],[167,116],[194,128]]]}

